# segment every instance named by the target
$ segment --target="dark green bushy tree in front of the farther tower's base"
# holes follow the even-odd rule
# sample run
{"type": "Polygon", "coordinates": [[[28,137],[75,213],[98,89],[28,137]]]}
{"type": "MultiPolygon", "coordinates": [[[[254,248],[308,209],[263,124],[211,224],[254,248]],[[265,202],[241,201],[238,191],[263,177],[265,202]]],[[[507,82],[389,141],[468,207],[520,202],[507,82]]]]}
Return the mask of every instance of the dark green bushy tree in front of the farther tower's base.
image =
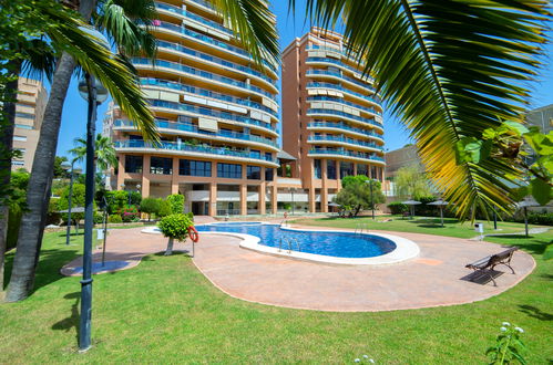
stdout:
{"type": "Polygon", "coordinates": [[[342,189],[334,201],[339,204],[342,210],[350,210],[355,217],[363,209],[377,209],[379,204],[386,201],[382,186],[378,180],[371,180],[371,184],[366,182],[367,180],[369,178],[365,175],[346,176],[341,180],[342,189]]]}

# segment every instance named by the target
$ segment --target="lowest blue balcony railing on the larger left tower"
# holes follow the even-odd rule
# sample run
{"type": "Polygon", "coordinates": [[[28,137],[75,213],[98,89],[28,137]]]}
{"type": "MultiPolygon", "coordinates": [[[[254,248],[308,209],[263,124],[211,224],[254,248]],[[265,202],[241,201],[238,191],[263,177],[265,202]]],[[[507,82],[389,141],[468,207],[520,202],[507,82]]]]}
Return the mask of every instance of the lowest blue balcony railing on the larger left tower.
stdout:
{"type": "Polygon", "coordinates": [[[206,145],[190,145],[178,142],[162,142],[160,146],[154,147],[151,143],[140,140],[140,139],[127,139],[127,140],[115,140],[115,148],[154,148],[154,149],[166,149],[166,150],[178,150],[178,152],[192,152],[202,153],[218,156],[234,156],[240,158],[252,158],[258,160],[266,160],[276,164],[276,159],[265,155],[259,155],[256,153],[250,153],[247,150],[233,150],[226,147],[214,147],[206,145]]]}

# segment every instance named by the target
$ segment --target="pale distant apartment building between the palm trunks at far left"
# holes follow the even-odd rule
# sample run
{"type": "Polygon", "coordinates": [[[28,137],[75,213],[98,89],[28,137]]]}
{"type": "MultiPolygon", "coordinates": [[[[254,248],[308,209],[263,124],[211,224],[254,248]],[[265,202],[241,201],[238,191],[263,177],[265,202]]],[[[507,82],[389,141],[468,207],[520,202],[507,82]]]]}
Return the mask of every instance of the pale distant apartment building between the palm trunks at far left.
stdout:
{"type": "Polygon", "coordinates": [[[21,155],[12,159],[12,170],[24,168],[31,171],[47,102],[48,93],[40,81],[19,79],[13,149],[21,155]]]}

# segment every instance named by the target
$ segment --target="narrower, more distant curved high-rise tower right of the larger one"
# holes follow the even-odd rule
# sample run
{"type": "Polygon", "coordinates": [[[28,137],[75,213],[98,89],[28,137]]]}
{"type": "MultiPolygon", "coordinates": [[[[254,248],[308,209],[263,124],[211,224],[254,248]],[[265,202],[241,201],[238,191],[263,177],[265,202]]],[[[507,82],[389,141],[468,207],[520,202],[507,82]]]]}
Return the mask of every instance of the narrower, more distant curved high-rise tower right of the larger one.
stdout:
{"type": "Polygon", "coordinates": [[[382,106],[341,34],[313,28],[283,54],[283,149],[294,156],[308,210],[328,204],[348,175],[383,179],[382,106]]]}

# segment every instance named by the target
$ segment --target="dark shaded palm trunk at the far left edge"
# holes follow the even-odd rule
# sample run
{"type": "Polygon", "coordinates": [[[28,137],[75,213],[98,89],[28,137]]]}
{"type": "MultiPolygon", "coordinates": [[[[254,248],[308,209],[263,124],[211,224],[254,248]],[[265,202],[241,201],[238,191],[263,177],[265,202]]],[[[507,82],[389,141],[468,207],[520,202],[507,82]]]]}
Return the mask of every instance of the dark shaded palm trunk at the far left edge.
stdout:
{"type": "MultiPolygon", "coordinates": [[[[21,62],[8,64],[8,69],[13,75],[21,72],[21,62]]],[[[3,121],[0,124],[0,184],[3,187],[10,186],[11,179],[11,154],[13,149],[13,129],[16,127],[16,100],[18,96],[18,79],[6,84],[3,101],[3,121]]],[[[8,233],[9,206],[8,196],[0,197],[0,301],[3,300],[3,274],[8,233]]]]}

